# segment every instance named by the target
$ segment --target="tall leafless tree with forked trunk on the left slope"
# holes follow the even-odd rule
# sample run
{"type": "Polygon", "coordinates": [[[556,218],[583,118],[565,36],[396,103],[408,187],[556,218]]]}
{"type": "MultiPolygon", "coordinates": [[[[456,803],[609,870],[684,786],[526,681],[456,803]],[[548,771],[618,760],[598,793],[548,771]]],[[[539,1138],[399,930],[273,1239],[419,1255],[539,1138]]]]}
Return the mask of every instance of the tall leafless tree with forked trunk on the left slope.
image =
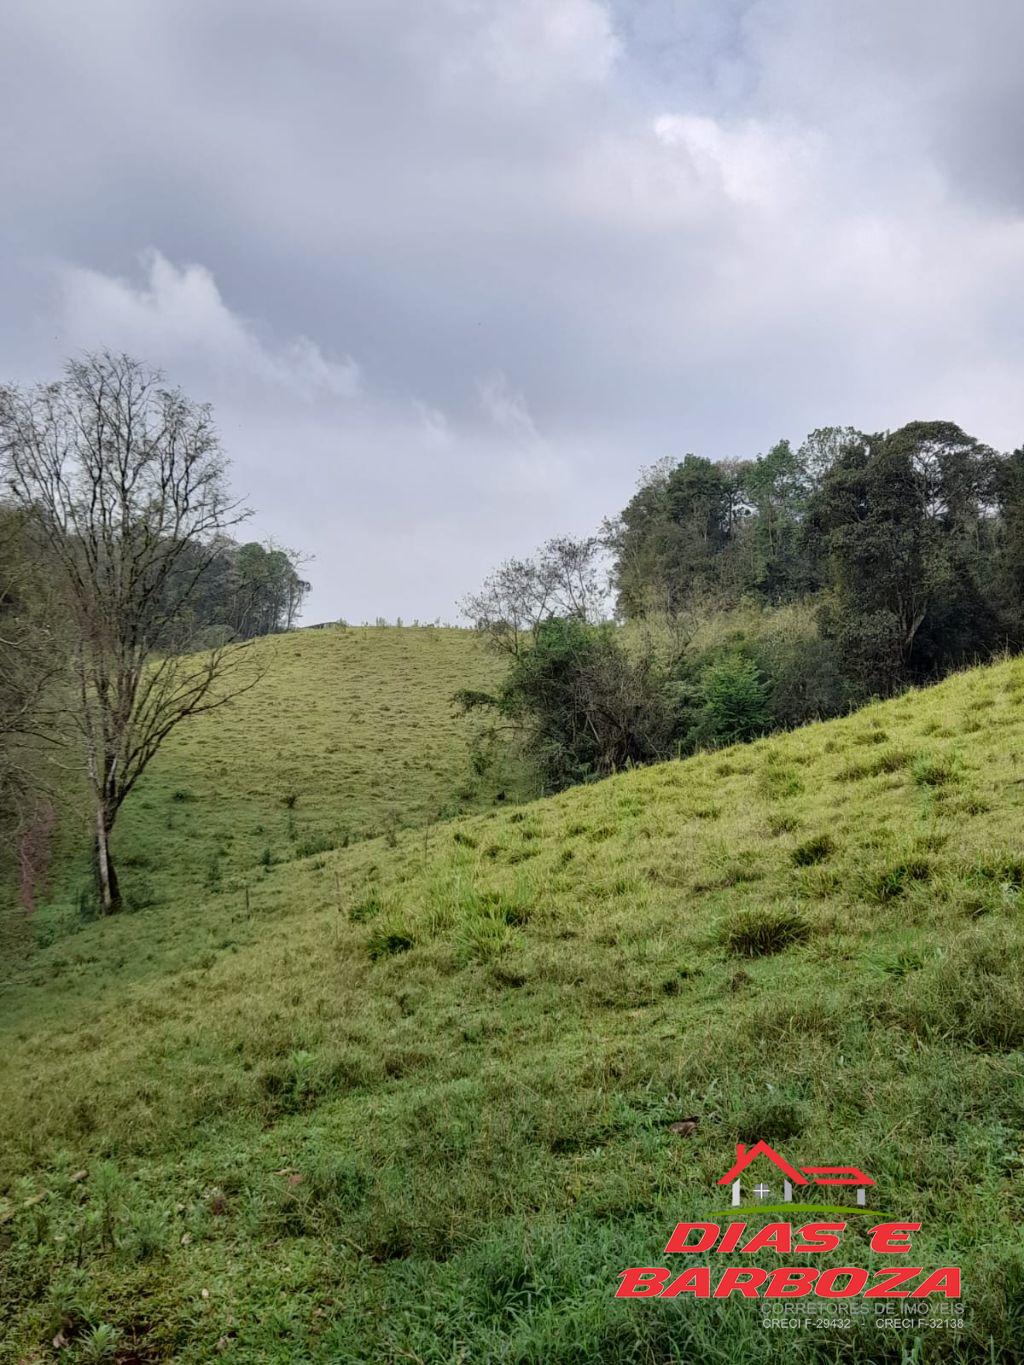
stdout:
{"type": "Polygon", "coordinates": [[[188,652],[216,538],[247,513],[229,501],[210,410],[124,355],[68,362],[57,384],[0,389],[0,461],[67,614],[67,711],[109,913],[124,799],[176,725],[255,681],[239,670],[243,646],[188,652]]]}

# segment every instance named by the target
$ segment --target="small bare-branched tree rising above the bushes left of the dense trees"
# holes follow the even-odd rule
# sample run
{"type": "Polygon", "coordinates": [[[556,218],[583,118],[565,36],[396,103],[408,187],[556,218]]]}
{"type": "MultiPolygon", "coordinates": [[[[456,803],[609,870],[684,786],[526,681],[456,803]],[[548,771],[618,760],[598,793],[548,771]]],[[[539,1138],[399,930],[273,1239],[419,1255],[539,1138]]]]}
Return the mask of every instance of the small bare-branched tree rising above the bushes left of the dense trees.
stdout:
{"type": "Polygon", "coordinates": [[[541,621],[553,616],[597,621],[606,605],[601,542],[563,535],[531,560],[505,560],[460,609],[497,650],[517,658],[541,621]]]}

